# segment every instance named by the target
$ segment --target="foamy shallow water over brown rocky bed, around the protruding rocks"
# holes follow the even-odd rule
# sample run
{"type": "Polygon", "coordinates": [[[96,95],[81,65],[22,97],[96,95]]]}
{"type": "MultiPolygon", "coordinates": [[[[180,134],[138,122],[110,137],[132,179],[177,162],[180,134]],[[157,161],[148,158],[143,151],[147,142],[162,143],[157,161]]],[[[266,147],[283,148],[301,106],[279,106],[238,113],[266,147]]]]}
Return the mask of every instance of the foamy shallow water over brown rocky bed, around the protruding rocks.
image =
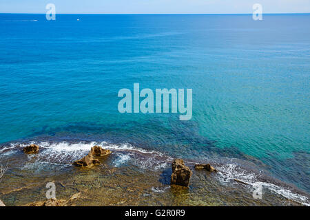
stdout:
{"type": "Polygon", "coordinates": [[[309,205],[306,193],[276,179],[266,179],[254,169],[245,170],[237,160],[212,163],[218,173],[194,170],[196,162],[185,161],[193,170],[186,189],[169,185],[173,158],[158,151],[107,142],[35,142],[41,146],[39,153],[25,155],[22,149],[30,143],[34,142],[11,144],[1,151],[2,161],[10,159],[0,194],[8,206],[44,201],[48,190],[45,186],[50,181],[56,184],[58,199],[81,192],[79,199],[68,203],[72,206],[309,205]],[[72,166],[95,144],[109,148],[112,155],[100,158],[101,165],[92,168],[72,166]],[[252,195],[257,184],[262,184],[262,199],[252,195]]]}

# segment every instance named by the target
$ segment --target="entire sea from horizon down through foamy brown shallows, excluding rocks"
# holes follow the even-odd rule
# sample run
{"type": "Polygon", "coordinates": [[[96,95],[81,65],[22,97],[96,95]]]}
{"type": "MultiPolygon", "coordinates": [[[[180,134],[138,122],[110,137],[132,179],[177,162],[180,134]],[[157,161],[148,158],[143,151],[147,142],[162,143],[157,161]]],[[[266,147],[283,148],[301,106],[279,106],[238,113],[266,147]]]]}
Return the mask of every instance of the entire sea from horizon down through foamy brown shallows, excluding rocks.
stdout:
{"type": "Polygon", "coordinates": [[[310,204],[310,14],[0,14],[0,76],[8,205],[44,200],[48,181],[85,206],[310,204]],[[134,83],[192,89],[192,119],[120,113],[134,83]],[[73,167],[94,145],[113,153],[73,167]],[[169,186],[175,158],[186,191],[169,186]]]}

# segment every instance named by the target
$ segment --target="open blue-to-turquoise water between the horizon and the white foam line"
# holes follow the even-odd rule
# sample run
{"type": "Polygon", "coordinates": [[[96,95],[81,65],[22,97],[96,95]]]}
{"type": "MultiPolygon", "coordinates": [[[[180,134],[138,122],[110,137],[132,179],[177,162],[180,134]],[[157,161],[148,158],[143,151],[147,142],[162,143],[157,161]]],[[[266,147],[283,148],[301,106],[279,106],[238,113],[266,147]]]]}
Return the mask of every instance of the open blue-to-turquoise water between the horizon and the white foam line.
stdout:
{"type": "Polygon", "coordinates": [[[0,142],[239,158],[310,192],[309,24],[309,14],[0,14],[0,142]],[[192,120],[119,113],[118,90],[134,83],[193,89],[192,120]]]}

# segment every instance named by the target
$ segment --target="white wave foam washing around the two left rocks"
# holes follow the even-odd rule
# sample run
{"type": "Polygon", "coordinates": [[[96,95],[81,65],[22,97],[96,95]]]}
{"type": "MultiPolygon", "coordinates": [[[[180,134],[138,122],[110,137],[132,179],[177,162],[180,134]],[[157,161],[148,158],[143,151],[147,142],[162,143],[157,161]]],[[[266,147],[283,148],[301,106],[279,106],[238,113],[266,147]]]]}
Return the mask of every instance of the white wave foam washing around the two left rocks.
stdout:
{"type": "MultiPolygon", "coordinates": [[[[137,148],[131,144],[110,144],[108,142],[28,142],[28,143],[14,143],[5,148],[1,148],[1,151],[6,151],[9,148],[24,148],[30,144],[38,144],[41,148],[39,154],[28,155],[28,158],[37,157],[39,162],[52,162],[58,164],[70,164],[76,159],[80,159],[87,155],[92,146],[99,145],[103,148],[110,149],[114,153],[117,153],[119,159],[116,159],[116,166],[127,162],[132,157],[132,162],[139,165],[141,168],[154,168],[155,170],[164,168],[167,163],[163,162],[163,154],[158,151],[147,151],[142,148],[137,148]],[[130,155],[130,156],[129,156],[130,155]],[[161,158],[159,158],[161,157],[161,158]]],[[[172,159],[170,157],[165,157],[172,159]]]]}

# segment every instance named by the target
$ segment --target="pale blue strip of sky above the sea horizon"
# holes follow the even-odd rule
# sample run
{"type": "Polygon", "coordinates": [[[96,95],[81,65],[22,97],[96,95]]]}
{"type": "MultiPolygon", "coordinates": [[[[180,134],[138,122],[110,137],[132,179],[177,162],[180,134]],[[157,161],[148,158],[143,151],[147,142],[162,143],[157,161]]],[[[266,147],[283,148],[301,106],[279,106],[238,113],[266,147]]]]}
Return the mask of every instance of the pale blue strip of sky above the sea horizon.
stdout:
{"type": "Polygon", "coordinates": [[[43,13],[54,3],[57,14],[251,14],[310,13],[310,0],[0,0],[0,13],[43,13]]]}

